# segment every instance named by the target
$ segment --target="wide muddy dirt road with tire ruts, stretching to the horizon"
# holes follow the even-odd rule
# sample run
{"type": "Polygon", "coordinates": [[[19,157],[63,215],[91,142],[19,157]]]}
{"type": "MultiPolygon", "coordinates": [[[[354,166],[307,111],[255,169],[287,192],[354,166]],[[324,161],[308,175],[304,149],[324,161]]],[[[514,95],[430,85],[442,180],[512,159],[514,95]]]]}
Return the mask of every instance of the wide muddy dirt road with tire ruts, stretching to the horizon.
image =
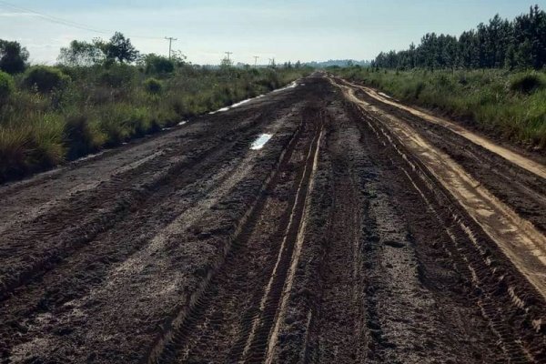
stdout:
{"type": "Polygon", "coordinates": [[[0,187],[0,362],[546,362],[543,164],[414,111],[316,74],[0,187]]]}

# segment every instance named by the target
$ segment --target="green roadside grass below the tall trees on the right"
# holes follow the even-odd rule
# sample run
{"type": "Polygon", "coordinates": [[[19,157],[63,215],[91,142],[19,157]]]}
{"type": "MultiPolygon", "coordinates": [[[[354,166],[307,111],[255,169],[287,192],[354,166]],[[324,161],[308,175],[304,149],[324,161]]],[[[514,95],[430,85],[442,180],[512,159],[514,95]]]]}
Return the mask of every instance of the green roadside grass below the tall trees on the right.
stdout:
{"type": "Polygon", "coordinates": [[[435,109],[522,147],[546,150],[546,73],[501,69],[330,72],[435,109]]]}

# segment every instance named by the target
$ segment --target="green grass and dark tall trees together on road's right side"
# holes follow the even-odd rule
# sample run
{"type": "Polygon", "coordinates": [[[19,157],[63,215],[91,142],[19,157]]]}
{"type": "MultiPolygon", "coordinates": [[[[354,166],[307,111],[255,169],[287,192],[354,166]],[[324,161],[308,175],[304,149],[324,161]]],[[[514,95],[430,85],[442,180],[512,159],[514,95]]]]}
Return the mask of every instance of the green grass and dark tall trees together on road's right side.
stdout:
{"type": "Polygon", "coordinates": [[[459,37],[429,33],[420,45],[380,53],[369,68],[332,72],[470,122],[491,136],[546,149],[546,13],[538,5],[459,37]],[[534,70],[532,70],[534,69],[534,70]]]}

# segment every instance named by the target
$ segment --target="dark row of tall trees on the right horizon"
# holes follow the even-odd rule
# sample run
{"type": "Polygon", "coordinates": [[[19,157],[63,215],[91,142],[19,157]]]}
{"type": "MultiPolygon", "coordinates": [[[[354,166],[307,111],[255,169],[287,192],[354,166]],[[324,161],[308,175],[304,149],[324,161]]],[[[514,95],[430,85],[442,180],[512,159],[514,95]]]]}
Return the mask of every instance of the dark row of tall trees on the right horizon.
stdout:
{"type": "Polygon", "coordinates": [[[389,69],[535,68],[546,66],[546,13],[539,5],[512,21],[495,15],[489,24],[453,35],[429,33],[420,45],[380,53],[372,66],[389,69]]]}

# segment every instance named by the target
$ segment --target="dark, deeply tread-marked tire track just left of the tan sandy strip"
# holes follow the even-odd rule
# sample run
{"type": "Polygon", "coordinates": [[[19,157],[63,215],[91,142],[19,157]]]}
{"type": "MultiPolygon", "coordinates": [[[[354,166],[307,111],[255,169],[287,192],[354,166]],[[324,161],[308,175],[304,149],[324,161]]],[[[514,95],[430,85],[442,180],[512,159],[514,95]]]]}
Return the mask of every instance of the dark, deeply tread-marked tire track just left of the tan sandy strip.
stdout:
{"type": "Polygon", "coordinates": [[[469,278],[476,304],[490,322],[506,357],[514,363],[541,362],[546,345],[541,323],[546,308],[536,291],[513,272],[508,258],[499,254],[498,248],[491,247],[489,239],[460,212],[459,204],[439,186],[428,169],[395,136],[389,135],[377,118],[364,112],[362,117],[379,140],[393,147],[407,163],[407,167],[400,168],[450,237],[444,242],[444,249],[455,268],[469,278]]]}

